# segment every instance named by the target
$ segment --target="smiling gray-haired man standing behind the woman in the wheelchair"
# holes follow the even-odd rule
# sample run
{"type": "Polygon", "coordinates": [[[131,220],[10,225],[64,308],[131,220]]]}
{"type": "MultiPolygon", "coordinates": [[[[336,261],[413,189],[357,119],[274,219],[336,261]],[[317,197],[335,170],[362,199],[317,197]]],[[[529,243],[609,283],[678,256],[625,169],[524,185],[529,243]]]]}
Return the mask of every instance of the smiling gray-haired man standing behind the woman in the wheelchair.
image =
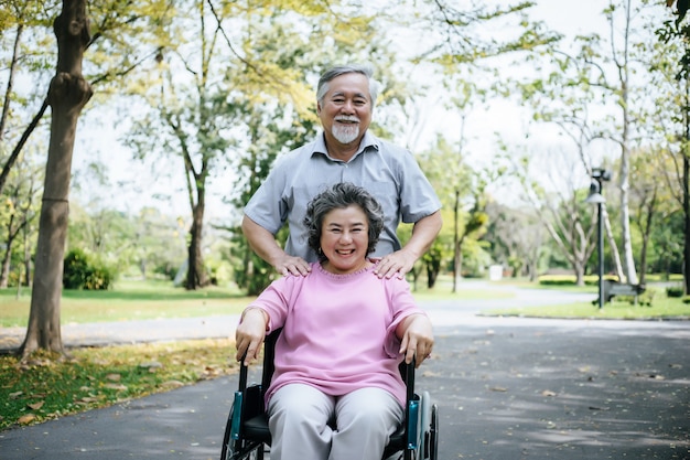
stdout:
{"type": "Polygon", "coordinates": [[[379,277],[405,276],[439,234],[441,203],[412,153],[368,131],[377,94],[368,67],[326,71],[316,88],[323,132],[280,157],[245,207],[242,232],[249,245],[278,272],[310,271],[309,263],[317,257],[308,245],[306,204],[338,182],[367,189],[384,207],[385,228],[373,254],[381,259],[379,277]],[[274,235],[285,221],[290,236],[283,249],[274,235]],[[414,223],[405,246],[396,235],[400,222],[414,223]]]}

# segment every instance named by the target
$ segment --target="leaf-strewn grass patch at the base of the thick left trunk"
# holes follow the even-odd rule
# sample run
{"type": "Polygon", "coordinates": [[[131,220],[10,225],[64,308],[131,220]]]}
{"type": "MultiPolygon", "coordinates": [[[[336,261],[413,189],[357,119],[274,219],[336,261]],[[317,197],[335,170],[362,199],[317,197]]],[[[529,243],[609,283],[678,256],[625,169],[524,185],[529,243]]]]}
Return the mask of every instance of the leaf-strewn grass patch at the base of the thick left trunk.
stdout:
{"type": "Polygon", "coordinates": [[[198,340],[0,356],[0,430],[166,392],[237,371],[233,342],[198,340]]]}

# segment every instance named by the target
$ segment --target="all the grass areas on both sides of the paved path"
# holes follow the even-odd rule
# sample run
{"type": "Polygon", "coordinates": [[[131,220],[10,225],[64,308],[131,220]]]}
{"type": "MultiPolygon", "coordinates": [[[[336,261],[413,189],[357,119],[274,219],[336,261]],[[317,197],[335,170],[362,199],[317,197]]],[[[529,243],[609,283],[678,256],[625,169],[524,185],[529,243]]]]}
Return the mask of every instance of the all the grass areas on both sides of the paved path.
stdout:
{"type": "MultiPolygon", "coordinates": [[[[506,280],[515,286],[515,281],[506,280]]],[[[451,293],[450,281],[440,279],[434,290],[419,286],[419,301],[443,299],[496,299],[513,296],[500,289],[465,289],[451,293]]],[[[537,285],[520,285],[539,288],[537,285]]],[[[461,285],[462,287],[462,285],[461,285]]],[[[545,289],[553,289],[551,287],[545,289]]],[[[559,287],[564,289],[564,287],[559,287]]],[[[596,288],[568,287],[592,292],[596,288]]],[[[0,327],[25,327],[30,292],[19,299],[14,289],[0,291],[0,327]]],[[[239,313],[251,298],[233,289],[185,291],[163,281],[123,281],[105,292],[64,291],[62,322],[130,321],[152,318],[192,318],[239,313]]],[[[653,307],[616,300],[599,310],[592,303],[494,310],[494,315],[541,318],[690,318],[690,304],[655,292],[653,307]]],[[[71,350],[65,360],[36,353],[26,362],[0,356],[0,430],[37,424],[153,393],[191,385],[236,372],[230,340],[196,340],[71,350]]]]}

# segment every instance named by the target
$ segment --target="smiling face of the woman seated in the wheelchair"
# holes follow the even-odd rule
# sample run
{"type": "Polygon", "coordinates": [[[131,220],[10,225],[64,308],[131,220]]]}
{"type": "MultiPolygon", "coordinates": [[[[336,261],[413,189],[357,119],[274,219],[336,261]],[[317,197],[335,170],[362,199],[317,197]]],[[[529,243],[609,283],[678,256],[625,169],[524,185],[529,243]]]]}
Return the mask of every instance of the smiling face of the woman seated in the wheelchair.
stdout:
{"type": "Polygon", "coordinates": [[[323,218],[321,250],[328,259],[323,264],[333,274],[352,274],[366,266],[369,245],[369,221],[356,205],[335,208],[323,218]]]}

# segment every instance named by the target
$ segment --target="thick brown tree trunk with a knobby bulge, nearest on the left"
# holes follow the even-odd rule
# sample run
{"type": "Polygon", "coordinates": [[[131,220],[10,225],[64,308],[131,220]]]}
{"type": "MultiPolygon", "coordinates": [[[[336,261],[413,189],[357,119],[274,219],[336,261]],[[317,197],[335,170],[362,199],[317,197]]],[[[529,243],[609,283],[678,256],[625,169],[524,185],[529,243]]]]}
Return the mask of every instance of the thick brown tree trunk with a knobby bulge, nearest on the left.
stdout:
{"type": "Polygon", "coordinates": [[[82,74],[84,50],[89,41],[86,0],[63,0],[62,12],[55,19],[53,29],[57,38],[57,66],[47,94],[52,110],[51,140],[29,327],[21,346],[24,357],[39,349],[64,354],[60,300],[69,215],[72,154],[79,114],[93,94],[82,74]]]}

